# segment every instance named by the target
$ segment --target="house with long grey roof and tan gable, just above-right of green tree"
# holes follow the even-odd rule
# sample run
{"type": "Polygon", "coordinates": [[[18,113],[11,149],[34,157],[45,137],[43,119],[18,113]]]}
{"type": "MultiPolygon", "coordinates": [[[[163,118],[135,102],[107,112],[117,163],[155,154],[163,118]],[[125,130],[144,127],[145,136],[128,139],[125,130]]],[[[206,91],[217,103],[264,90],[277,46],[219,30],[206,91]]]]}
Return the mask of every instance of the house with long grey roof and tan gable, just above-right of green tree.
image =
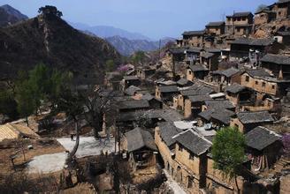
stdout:
{"type": "Polygon", "coordinates": [[[243,133],[248,133],[257,126],[272,124],[274,121],[274,118],[268,111],[240,112],[237,113],[236,117],[233,117],[231,126],[237,127],[243,133]]]}

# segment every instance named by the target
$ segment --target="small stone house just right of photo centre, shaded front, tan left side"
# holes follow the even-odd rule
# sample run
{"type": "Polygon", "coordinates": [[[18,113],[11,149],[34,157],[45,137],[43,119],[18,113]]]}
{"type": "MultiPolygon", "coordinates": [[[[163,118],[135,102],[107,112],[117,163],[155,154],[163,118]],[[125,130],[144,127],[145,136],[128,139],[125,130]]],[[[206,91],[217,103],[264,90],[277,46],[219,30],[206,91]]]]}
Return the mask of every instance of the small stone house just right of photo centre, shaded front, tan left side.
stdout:
{"type": "Polygon", "coordinates": [[[173,97],[179,94],[177,86],[156,86],[155,96],[164,102],[173,101],[173,97]]]}

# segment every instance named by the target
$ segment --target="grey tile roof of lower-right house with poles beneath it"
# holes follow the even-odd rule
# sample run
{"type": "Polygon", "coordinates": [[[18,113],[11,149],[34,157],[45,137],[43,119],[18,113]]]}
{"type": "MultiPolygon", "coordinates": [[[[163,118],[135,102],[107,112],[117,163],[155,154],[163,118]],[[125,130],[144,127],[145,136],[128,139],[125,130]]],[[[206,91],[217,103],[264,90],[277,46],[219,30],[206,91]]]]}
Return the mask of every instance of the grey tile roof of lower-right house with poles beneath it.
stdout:
{"type": "Polygon", "coordinates": [[[265,127],[256,127],[249,131],[246,136],[246,145],[256,150],[262,151],[267,146],[279,141],[281,136],[265,127]]]}

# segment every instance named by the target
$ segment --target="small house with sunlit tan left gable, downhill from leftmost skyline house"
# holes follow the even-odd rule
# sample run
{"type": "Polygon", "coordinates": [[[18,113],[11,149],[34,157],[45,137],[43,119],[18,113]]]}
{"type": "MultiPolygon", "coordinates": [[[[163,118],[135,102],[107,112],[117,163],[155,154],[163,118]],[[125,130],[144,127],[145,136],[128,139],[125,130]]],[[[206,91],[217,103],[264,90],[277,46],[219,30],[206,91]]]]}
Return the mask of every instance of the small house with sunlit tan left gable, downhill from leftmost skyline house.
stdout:
{"type": "Polygon", "coordinates": [[[187,68],[187,80],[204,79],[209,72],[209,69],[204,64],[190,64],[187,68]]]}

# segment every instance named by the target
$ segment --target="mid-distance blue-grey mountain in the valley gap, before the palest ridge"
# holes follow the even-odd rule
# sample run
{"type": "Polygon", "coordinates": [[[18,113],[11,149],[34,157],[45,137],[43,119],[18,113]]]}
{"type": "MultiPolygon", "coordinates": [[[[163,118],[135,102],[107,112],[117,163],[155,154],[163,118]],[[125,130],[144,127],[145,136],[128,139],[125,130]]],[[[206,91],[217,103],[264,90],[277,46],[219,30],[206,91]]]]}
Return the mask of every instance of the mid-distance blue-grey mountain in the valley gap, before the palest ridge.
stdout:
{"type": "MultiPolygon", "coordinates": [[[[169,41],[173,41],[172,38],[166,38],[161,41],[161,48],[164,47],[169,41]]],[[[120,54],[123,56],[131,56],[136,51],[153,51],[159,48],[159,41],[147,41],[147,40],[129,40],[120,36],[112,36],[106,38],[120,54]]]]}

